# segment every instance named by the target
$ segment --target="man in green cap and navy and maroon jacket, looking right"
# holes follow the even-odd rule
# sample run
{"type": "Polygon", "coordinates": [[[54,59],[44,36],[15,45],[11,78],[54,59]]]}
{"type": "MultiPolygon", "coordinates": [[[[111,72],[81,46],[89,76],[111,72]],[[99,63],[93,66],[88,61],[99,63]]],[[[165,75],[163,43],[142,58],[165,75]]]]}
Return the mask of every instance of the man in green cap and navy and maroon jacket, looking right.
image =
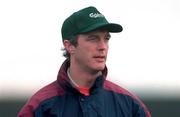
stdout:
{"type": "Polygon", "coordinates": [[[122,30],[95,7],[69,16],[62,26],[67,59],[57,80],[38,91],[18,116],[151,117],[137,97],[106,80],[110,32],[122,30]]]}

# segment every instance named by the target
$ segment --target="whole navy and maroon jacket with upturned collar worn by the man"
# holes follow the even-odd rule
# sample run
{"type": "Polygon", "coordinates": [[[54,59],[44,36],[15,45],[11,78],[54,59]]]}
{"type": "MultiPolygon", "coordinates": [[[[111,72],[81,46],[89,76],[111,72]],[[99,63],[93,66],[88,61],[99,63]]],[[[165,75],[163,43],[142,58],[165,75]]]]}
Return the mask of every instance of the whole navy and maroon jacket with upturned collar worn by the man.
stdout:
{"type": "Polygon", "coordinates": [[[133,94],[107,81],[107,69],[84,96],[70,84],[65,61],[57,81],[38,91],[18,117],[151,117],[146,106],[133,94]]]}

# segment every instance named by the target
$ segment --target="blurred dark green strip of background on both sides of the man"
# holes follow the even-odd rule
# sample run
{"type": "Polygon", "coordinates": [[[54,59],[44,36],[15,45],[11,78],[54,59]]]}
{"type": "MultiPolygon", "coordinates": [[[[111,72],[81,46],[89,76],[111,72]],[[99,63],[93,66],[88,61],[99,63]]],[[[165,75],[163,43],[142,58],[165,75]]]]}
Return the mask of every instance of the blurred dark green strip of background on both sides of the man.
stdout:
{"type": "MultiPolygon", "coordinates": [[[[180,99],[141,98],[152,117],[180,117],[180,99]]],[[[16,117],[27,99],[0,99],[0,117],[16,117]]]]}

